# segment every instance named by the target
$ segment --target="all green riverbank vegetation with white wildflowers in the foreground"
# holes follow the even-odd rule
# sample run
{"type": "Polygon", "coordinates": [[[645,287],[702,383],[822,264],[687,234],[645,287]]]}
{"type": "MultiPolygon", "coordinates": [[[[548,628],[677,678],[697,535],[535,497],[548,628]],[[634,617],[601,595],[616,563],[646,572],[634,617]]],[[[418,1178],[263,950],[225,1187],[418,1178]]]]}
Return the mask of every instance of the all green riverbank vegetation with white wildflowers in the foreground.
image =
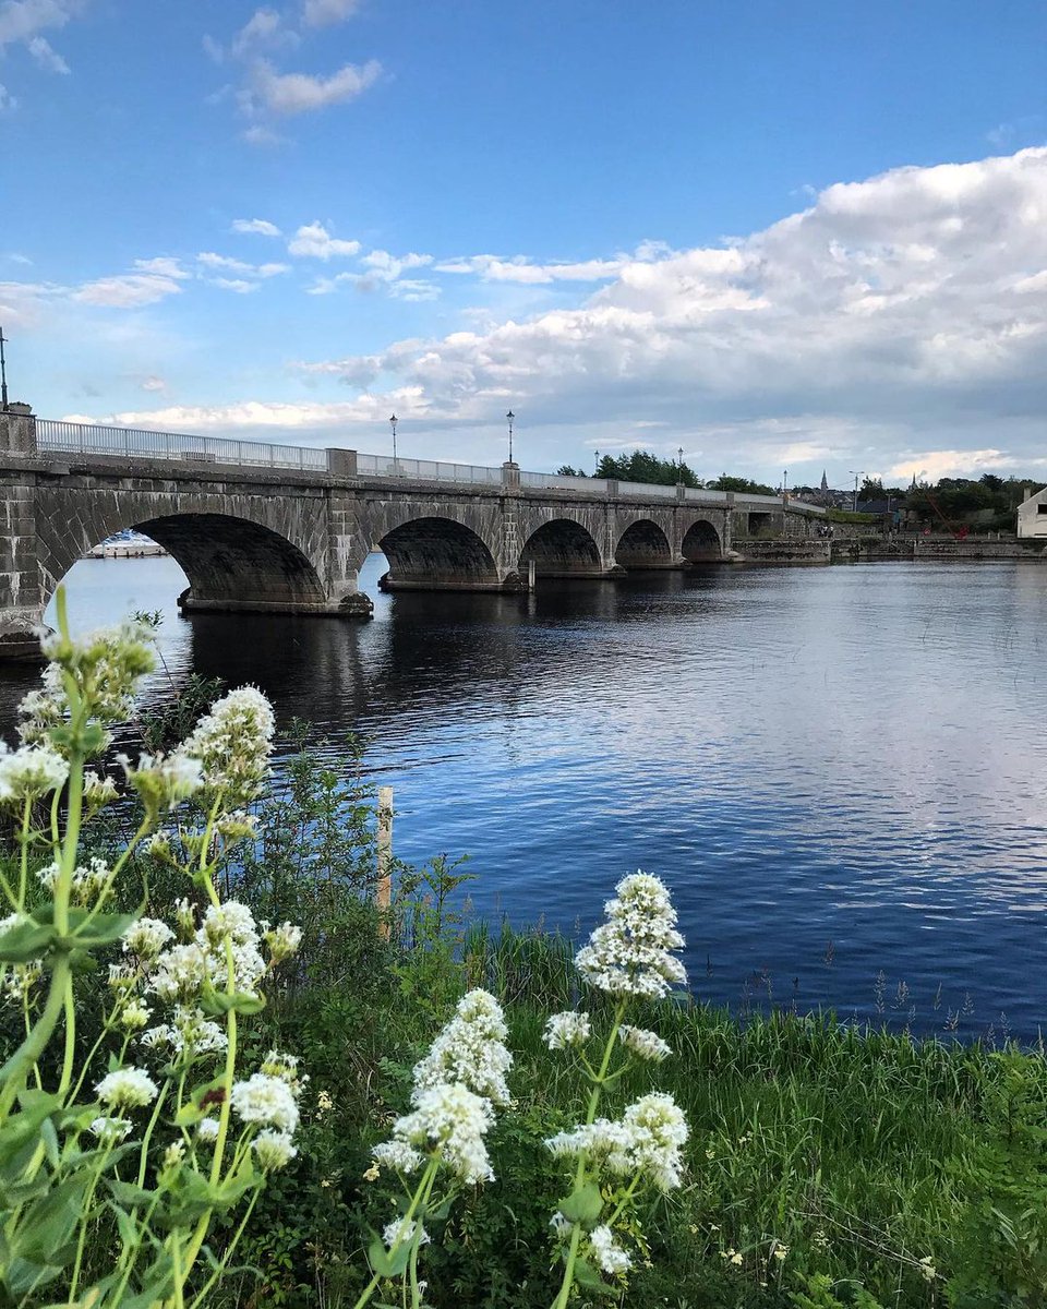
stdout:
{"type": "MultiPolygon", "coordinates": [[[[111,664],[114,648],[105,651],[111,664]]],[[[73,654],[63,657],[76,665],[73,654]]],[[[22,819],[12,829],[5,886],[21,889],[17,912],[25,919],[0,936],[8,999],[16,1001],[5,1011],[9,1058],[0,1072],[5,1085],[17,1081],[0,1127],[7,1302],[349,1309],[370,1296],[435,1309],[1047,1304],[1042,1049],[917,1041],[793,1012],[742,1020],[682,988],[670,991],[678,941],[654,878],[619,884],[607,923],[577,958],[561,936],[474,922],[469,864],[449,855],[421,868],[394,861],[390,907],[380,911],[377,805],[363,744],[317,744],[306,725],[291,724],[277,746],[280,780],[268,783],[264,762],[260,771],[250,762],[264,755],[260,696],[233,692],[200,719],[200,702],[216,691],[199,686],[177,712],[140,724],[152,757],[127,774],[153,826],[170,833],[177,822],[179,840],[136,839],[141,814],[115,798],[126,784],[118,768],[120,787],[90,784],[105,788],[106,802],[92,805],[89,846],[76,860],[63,856],[50,890],[47,878],[37,878],[41,889],[26,891],[38,860],[35,842],[18,833],[35,830],[25,825],[30,813],[43,818],[43,844],[56,830],[68,836],[63,805],[75,808],[72,793],[62,804],[39,801],[64,793],[69,770],[55,764],[44,776],[35,755],[22,755],[17,767],[8,755],[0,768],[8,813],[22,819]],[[243,750],[245,732],[254,733],[253,751],[243,750]],[[199,770],[186,762],[194,749],[205,753],[199,770]],[[169,751],[166,764],[157,751],[169,751]],[[246,816],[234,806],[241,801],[246,816]],[[165,817],[185,802],[187,816],[165,817]],[[217,839],[188,821],[211,810],[217,839]],[[192,867],[179,850],[195,855],[192,867]],[[55,886],[68,895],[76,870],[94,867],[90,856],[110,870],[123,859],[99,884],[111,893],[105,925],[118,935],[106,941],[94,931],[88,941],[81,931],[77,949],[90,949],[99,967],[71,970],[73,1026],[64,999],[55,1007],[47,1000],[62,940],[29,936],[50,922],[55,886]],[[194,915],[198,898],[211,915],[203,923],[194,915]],[[141,1050],[132,1035],[139,1029],[120,1017],[133,1008],[136,1022],[141,1008],[162,999],[143,942],[128,956],[128,924],[145,901],[151,923],[171,924],[171,940],[185,937],[191,918],[186,941],[216,961],[209,982],[205,958],[203,977],[190,977],[190,969],[178,982],[207,1011],[199,1022],[209,1026],[182,1030],[179,1045],[183,995],[166,1024],[170,1050],[162,1058],[141,1050]],[[255,962],[245,949],[249,919],[279,959],[255,962]],[[641,956],[643,966],[633,966],[641,956]],[[623,958],[633,961],[626,974],[623,958]],[[137,990],[124,986],[128,959],[140,974],[137,990]],[[26,1085],[18,1051],[44,1011],[58,1045],[35,1051],[35,1080],[26,1085]],[[111,1047],[118,1030],[124,1035],[115,1063],[99,1076],[92,1071],[96,1050],[111,1047]],[[132,1086],[135,1060],[145,1067],[132,1086]],[[114,1101],[106,1117],[115,1085],[107,1079],[122,1075],[120,1094],[139,1098],[114,1101]],[[258,1077],[268,1079],[264,1088],[258,1077]],[[478,1077],[479,1092],[465,1086],[478,1077]],[[436,1111],[425,1093],[449,1084],[465,1086],[457,1094],[475,1127],[469,1149],[458,1148],[459,1136],[454,1147],[440,1138],[424,1169],[412,1169],[417,1115],[436,1111]],[[166,1109],[160,1085],[171,1088],[166,1109]],[[47,1098],[52,1088],[60,1103],[47,1098]],[[586,1103],[595,1136],[578,1127],[586,1103]],[[648,1136],[637,1135],[640,1113],[648,1114],[648,1136]],[[26,1114],[35,1115],[29,1134],[21,1130],[26,1114]],[[133,1124],[126,1144],[106,1126],[123,1118],[133,1124]],[[209,1161],[217,1155],[205,1155],[215,1148],[212,1132],[205,1147],[199,1126],[205,1119],[237,1140],[215,1175],[209,1161]],[[649,1135],[654,1127],[661,1136],[649,1135]],[[402,1165],[407,1182],[399,1219],[393,1165],[402,1165]],[[34,1233],[42,1229],[67,1234],[41,1244],[34,1233]],[[16,1249],[20,1233],[25,1249],[16,1249]],[[44,1271],[26,1267],[25,1250],[44,1271]],[[136,1295],[127,1291],[132,1282],[136,1295]]],[[[111,711],[123,707],[120,700],[111,711]]],[[[69,706],[63,709],[56,695],[35,708],[44,734],[58,733],[54,753],[68,763],[63,741],[82,745],[86,725],[69,736],[69,706]]],[[[105,745],[101,736],[92,742],[96,751],[105,745]]],[[[77,885],[93,894],[88,881],[77,885]]],[[[594,888],[597,898],[611,894],[610,881],[594,888]]],[[[164,936],[161,927],[154,937],[164,936]]],[[[174,948],[165,939],[160,949],[174,948]]],[[[188,954],[178,958],[188,962],[188,954]]],[[[174,962],[161,971],[174,977],[174,962]]]]}

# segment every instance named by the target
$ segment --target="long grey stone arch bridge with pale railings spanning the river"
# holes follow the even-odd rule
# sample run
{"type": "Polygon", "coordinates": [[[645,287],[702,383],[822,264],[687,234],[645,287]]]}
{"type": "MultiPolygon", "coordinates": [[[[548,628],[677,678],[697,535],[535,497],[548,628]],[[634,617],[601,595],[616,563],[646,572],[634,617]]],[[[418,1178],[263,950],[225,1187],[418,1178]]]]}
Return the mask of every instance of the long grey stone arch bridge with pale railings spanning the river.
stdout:
{"type": "Polygon", "coordinates": [[[190,585],[185,610],[366,618],[368,554],[390,590],[525,590],[743,558],[756,535],[804,538],[818,511],[771,496],[564,478],[355,450],[55,423],[0,412],[0,657],[68,569],[135,528],[190,585]],[[739,552],[741,550],[741,552],[739,552]]]}

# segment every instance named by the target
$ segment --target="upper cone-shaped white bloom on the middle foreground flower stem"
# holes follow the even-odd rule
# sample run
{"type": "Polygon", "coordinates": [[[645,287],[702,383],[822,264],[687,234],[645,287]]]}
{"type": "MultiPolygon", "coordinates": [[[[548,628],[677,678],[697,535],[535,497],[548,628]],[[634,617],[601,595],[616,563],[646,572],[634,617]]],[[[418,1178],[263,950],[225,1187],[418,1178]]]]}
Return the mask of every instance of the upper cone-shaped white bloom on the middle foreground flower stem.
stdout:
{"type": "Polygon", "coordinates": [[[506,1035],[501,1005],[492,995],[476,990],[462,996],[454,1017],[415,1064],[412,1102],[433,1086],[461,1083],[484,1100],[508,1105],[505,1073],[513,1056],[504,1045],[506,1035]]]}

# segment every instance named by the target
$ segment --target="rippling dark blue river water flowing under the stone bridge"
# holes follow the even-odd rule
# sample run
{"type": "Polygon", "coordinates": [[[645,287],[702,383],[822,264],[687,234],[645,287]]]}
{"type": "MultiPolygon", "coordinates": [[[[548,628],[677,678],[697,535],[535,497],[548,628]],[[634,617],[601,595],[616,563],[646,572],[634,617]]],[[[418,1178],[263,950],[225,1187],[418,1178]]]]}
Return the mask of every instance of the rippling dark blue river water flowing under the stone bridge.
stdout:
{"type": "MultiPolygon", "coordinates": [[[[170,559],[85,560],[68,588],[80,626],[161,609],[175,681],[254,682],[284,723],[366,733],[397,852],[467,852],[478,915],[588,932],[643,868],[703,997],[1035,1037],[1047,567],[713,567],[530,597],[386,597],[383,567],[365,624],[182,618],[170,559]]],[[[0,669],[5,726],[33,679],[0,669]]]]}

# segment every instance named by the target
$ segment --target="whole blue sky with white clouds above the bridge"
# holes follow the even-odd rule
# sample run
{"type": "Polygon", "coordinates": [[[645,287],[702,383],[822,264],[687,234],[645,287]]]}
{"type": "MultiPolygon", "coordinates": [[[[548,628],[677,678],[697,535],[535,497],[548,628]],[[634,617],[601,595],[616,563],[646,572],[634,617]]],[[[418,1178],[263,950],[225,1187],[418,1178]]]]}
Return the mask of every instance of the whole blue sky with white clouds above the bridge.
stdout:
{"type": "Polygon", "coordinates": [[[0,0],[51,418],[847,484],[1047,467],[1047,8],[0,0]]]}

